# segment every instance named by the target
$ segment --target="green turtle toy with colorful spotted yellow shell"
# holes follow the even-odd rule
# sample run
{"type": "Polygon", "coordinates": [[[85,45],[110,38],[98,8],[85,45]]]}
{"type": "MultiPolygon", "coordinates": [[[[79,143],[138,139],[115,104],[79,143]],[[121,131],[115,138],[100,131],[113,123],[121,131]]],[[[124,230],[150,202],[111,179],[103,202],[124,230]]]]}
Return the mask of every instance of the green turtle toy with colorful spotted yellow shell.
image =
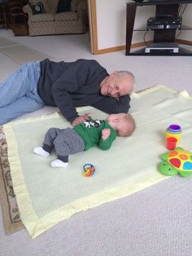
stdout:
{"type": "Polygon", "coordinates": [[[185,151],[183,148],[175,148],[164,153],[159,164],[159,172],[167,176],[174,176],[177,173],[182,177],[189,177],[192,174],[192,152],[185,151]]]}

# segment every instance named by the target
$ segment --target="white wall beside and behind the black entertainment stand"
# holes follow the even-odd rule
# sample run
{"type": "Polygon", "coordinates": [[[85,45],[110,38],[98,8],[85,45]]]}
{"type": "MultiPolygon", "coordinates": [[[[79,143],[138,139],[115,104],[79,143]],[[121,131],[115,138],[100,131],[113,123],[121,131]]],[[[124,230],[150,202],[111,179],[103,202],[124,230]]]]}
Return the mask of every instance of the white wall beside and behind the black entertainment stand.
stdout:
{"type": "MultiPolygon", "coordinates": [[[[127,0],[96,0],[98,50],[125,45],[127,0]]],[[[183,5],[183,7],[185,4],[183,5]]],[[[183,8],[182,7],[182,8],[183,8]]],[[[192,4],[188,4],[183,14],[183,24],[192,27],[192,4]]],[[[146,26],[146,20],[155,15],[155,7],[137,7],[134,28],[146,26]]],[[[134,32],[133,42],[143,42],[145,32],[134,32]]],[[[153,32],[146,33],[146,41],[153,38],[153,32]]],[[[183,40],[192,40],[192,30],[182,31],[183,40]]]]}

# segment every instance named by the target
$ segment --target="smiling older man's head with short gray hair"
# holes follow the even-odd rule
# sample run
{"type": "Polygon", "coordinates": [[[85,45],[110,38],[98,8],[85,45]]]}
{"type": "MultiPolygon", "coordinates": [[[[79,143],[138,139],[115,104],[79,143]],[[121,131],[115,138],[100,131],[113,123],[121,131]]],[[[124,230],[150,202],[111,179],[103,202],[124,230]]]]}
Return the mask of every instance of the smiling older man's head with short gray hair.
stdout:
{"type": "Polygon", "coordinates": [[[133,90],[134,76],[129,71],[115,71],[101,82],[101,94],[116,99],[129,95],[133,90]]]}

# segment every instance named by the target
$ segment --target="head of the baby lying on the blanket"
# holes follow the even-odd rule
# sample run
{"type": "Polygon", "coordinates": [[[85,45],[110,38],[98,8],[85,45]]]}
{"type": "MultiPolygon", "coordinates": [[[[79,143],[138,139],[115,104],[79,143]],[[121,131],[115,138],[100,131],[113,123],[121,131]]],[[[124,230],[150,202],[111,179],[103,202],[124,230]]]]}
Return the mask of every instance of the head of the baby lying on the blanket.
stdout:
{"type": "Polygon", "coordinates": [[[109,125],[116,130],[118,136],[130,136],[135,130],[135,122],[130,114],[118,113],[107,117],[109,125]]]}

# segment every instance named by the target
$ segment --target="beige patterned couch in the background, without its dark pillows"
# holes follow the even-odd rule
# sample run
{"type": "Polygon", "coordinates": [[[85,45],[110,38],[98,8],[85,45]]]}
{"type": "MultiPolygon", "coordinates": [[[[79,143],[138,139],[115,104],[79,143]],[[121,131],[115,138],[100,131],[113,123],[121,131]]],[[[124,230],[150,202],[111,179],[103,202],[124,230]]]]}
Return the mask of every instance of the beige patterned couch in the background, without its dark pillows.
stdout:
{"type": "Polygon", "coordinates": [[[85,33],[88,24],[86,0],[72,0],[70,10],[57,13],[59,0],[30,0],[23,7],[28,14],[28,35],[85,33]],[[41,2],[45,13],[33,14],[30,6],[41,2]]]}

